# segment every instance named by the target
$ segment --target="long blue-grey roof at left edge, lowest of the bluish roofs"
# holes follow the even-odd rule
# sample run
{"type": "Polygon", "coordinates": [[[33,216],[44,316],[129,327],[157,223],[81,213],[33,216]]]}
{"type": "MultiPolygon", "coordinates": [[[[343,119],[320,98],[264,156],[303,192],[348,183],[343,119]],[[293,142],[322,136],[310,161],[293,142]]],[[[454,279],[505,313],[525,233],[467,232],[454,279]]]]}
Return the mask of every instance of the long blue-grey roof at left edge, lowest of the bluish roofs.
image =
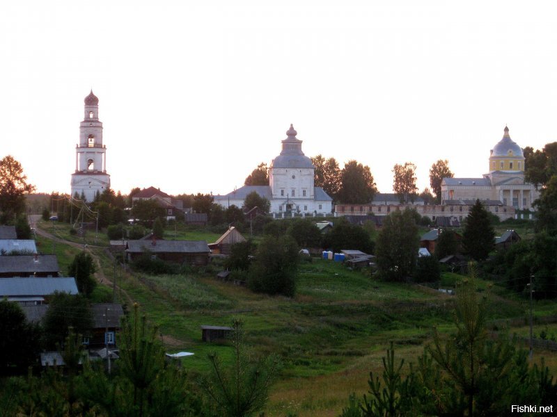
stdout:
{"type": "Polygon", "coordinates": [[[51,295],[55,291],[77,294],[74,278],[0,278],[0,297],[51,295]]]}

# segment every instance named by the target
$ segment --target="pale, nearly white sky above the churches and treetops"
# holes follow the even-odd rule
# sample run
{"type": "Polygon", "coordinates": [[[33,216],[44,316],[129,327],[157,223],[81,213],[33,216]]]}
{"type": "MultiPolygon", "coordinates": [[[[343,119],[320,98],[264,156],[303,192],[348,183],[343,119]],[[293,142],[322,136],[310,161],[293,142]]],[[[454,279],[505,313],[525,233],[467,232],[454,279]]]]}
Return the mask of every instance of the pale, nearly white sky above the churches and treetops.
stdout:
{"type": "Polygon", "coordinates": [[[481,177],[509,126],[557,140],[551,1],[4,1],[0,157],[69,193],[84,97],[122,193],[224,194],[281,151],[481,177]]]}

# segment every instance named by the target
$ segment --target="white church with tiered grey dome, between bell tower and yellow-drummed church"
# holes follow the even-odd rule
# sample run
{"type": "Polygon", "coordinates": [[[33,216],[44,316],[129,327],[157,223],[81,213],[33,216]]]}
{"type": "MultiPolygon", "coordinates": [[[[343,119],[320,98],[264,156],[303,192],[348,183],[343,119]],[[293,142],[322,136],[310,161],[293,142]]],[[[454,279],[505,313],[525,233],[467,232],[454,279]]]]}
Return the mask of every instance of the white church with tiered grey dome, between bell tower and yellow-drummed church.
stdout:
{"type": "Polygon", "coordinates": [[[295,215],[325,215],[332,211],[333,199],[320,187],[314,186],[315,167],[301,152],[301,140],[290,124],[287,138],[282,141],[281,154],[269,166],[268,186],[243,186],[226,195],[214,195],[214,202],[224,208],[244,206],[244,199],[255,191],[271,202],[271,212],[280,217],[295,215]]]}

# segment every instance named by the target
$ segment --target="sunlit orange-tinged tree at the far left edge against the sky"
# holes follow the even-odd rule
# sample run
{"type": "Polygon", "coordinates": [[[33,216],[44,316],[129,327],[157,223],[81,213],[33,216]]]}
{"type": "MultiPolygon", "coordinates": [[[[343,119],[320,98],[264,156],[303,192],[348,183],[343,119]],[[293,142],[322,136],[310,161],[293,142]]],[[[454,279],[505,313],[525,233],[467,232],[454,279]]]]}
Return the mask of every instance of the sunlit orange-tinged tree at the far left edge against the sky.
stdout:
{"type": "Polygon", "coordinates": [[[27,183],[22,165],[13,156],[0,160],[0,211],[6,220],[25,212],[25,195],[33,193],[35,186],[27,183]]]}

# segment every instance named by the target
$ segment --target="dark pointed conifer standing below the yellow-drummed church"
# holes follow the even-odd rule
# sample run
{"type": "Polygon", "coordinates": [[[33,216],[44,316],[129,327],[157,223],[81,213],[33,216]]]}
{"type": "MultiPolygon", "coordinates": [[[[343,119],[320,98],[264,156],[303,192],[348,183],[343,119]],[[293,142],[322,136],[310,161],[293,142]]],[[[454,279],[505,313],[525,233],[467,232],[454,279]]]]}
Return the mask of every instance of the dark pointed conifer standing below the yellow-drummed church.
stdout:
{"type": "Polygon", "coordinates": [[[466,218],[462,234],[464,252],[475,261],[483,261],[492,251],[494,240],[495,232],[489,221],[489,213],[477,199],[466,218]]]}

